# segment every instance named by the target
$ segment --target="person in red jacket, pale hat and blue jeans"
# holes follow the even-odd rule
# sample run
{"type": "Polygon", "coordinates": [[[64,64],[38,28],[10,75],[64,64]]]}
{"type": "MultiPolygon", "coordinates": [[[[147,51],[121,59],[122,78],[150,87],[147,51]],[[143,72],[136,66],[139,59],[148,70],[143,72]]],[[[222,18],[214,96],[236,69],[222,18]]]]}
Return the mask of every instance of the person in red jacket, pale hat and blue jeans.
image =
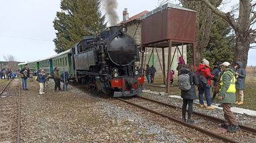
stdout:
{"type": "Polygon", "coordinates": [[[211,106],[211,79],[214,78],[214,76],[211,74],[211,69],[209,66],[209,61],[206,59],[203,59],[203,63],[197,67],[197,76],[199,78],[199,107],[201,108],[207,108],[207,109],[214,109],[213,106],[211,106]],[[207,99],[207,106],[205,106],[203,101],[203,94],[205,93],[205,98],[207,99]]]}

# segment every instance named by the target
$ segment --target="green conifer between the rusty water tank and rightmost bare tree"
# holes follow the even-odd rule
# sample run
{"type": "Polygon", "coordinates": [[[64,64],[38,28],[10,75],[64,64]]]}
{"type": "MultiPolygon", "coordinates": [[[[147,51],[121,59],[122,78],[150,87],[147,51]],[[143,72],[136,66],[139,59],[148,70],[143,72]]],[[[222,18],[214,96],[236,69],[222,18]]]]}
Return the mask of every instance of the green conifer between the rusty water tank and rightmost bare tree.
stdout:
{"type": "MultiPolygon", "coordinates": [[[[217,15],[214,16],[215,19],[217,15]]],[[[192,47],[188,45],[187,57],[188,63],[192,63],[192,47]]],[[[216,65],[228,61],[232,63],[233,53],[235,49],[235,37],[231,35],[231,27],[229,23],[223,19],[215,21],[211,27],[210,40],[207,46],[203,49],[202,59],[205,58],[210,62],[210,65],[216,65]]],[[[199,64],[199,63],[197,63],[199,64]]]]}

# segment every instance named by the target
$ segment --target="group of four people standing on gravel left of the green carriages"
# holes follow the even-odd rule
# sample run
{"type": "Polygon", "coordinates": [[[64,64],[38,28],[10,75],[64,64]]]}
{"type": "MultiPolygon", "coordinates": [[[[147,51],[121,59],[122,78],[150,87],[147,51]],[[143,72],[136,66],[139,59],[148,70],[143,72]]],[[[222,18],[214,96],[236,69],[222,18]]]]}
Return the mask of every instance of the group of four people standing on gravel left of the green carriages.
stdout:
{"type": "Polygon", "coordinates": [[[24,69],[21,69],[21,80],[22,80],[22,88],[23,90],[27,89],[27,79],[29,79],[30,82],[33,82],[33,76],[35,76],[35,80],[39,82],[39,94],[45,94],[43,92],[43,88],[47,88],[49,84],[49,78],[53,78],[55,82],[54,90],[56,91],[57,88],[61,90],[60,88],[60,80],[63,81],[63,90],[66,91],[68,87],[68,78],[69,74],[68,72],[64,71],[61,75],[59,75],[59,68],[55,67],[52,74],[47,74],[43,69],[35,70],[34,72],[29,69],[28,65],[25,65],[24,69]]]}

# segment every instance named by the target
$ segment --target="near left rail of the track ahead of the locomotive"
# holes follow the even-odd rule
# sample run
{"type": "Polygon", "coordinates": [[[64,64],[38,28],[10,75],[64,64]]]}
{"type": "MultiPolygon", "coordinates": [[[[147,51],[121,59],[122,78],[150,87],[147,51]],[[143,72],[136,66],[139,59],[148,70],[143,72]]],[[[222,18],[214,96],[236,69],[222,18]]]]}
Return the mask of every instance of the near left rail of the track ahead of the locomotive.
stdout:
{"type": "Polygon", "coordinates": [[[128,103],[128,104],[131,104],[131,105],[133,105],[133,106],[137,106],[138,108],[142,108],[142,109],[144,109],[144,110],[146,110],[146,111],[148,111],[148,112],[152,112],[152,113],[154,113],[154,114],[158,114],[158,115],[160,115],[160,116],[163,116],[163,117],[165,117],[165,118],[168,118],[169,120],[172,120],[172,121],[174,121],[174,122],[177,122],[178,124],[182,124],[183,126],[186,126],[186,127],[188,127],[188,128],[192,128],[192,129],[195,129],[195,130],[197,130],[197,131],[199,131],[199,132],[201,132],[201,133],[203,133],[203,134],[207,134],[208,136],[211,136],[211,137],[213,137],[213,138],[217,138],[218,140],[222,140],[223,142],[234,142],[234,143],[237,143],[237,141],[231,140],[230,138],[227,138],[227,137],[225,137],[225,136],[220,136],[219,134],[215,134],[215,133],[213,133],[213,132],[210,132],[209,130],[204,130],[203,128],[200,128],[200,127],[195,126],[195,125],[193,125],[193,124],[188,124],[188,123],[186,123],[186,122],[183,122],[182,120],[178,120],[178,119],[176,119],[176,118],[173,118],[172,116],[168,116],[168,115],[166,115],[166,114],[162,114],[162,113],[160,113],[160,112],[157,112],[157,111],[155,111],[155,110],[151,110],[151,109],[146,108],[146,107],[144,107],[144,106],[140,106],[140,105],[135,104],[135,103],[133,103],[133,102],[129,102],[128,100],[124,100],[124,99],[122,99],[122,98],[118,98],[118,100],[122,100],[123,102],[126,102],[126,103],[128,103]]]}

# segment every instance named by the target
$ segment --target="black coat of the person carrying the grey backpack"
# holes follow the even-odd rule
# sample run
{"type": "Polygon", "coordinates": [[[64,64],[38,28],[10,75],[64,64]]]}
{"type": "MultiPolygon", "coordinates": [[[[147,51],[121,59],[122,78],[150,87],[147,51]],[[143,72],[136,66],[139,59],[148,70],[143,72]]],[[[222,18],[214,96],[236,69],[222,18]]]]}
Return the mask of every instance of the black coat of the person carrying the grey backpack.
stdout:
{"type": "Polygon", "coordinates": [[[185,99],[195,100],[197,98],[195,85],[199,84],[199,80],[197,79],[197,73],[192,73],[189,70],[187,72],[189,72],[190,80],[193,80],[193,82],[189,90],[181,90],[181,97],[185,99]]]}

